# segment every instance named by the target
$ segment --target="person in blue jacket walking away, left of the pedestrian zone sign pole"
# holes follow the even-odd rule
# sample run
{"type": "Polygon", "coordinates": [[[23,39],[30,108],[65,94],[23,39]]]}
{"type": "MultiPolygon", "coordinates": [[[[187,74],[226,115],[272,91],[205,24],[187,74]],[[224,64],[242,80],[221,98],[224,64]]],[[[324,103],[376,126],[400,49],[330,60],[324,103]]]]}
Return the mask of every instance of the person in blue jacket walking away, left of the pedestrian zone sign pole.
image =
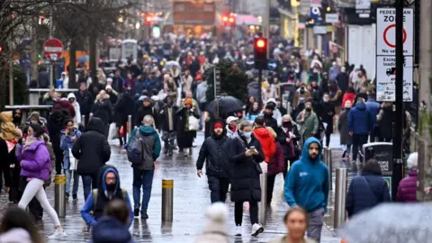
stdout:
{"type": "Polygon", "coordinates": [[[348,113],[348,132],[353,136],[353,161],[357,161],[358,149],[367,142],[374,129],[376,117],[367,109],[365,99],[357,98],[357,104],[348,113]]]}

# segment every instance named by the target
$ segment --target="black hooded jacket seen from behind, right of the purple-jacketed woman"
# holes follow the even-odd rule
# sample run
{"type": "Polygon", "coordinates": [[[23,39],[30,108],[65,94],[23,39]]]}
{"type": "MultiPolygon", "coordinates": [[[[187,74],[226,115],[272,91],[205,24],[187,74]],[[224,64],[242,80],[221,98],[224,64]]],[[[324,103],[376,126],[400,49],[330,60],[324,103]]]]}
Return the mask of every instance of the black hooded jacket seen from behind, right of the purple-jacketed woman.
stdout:
{"type": "Polygon", "coordinates": [[[110,160],[111,148],[103,135],[104,127],[100,118],[91,118],[85,130],[72,147],[72,154],[79,159],[79,175],[97,175],[99,169],[110,160]]]}

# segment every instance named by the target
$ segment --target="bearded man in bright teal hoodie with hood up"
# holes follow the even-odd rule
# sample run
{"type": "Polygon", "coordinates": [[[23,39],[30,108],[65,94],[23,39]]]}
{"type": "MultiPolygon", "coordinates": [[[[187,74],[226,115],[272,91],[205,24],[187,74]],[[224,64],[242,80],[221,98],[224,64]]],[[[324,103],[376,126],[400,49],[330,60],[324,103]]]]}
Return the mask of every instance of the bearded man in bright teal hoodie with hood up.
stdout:
{"type": "Polygon", "coordinates": [[[308,211],[308,238],[320,242],[324,213],[329,201],[329,167],[321,161],[320,140],[307,139],[302,157],[293,163],[285,180],[284,197],[293,206],[308,211]]]}

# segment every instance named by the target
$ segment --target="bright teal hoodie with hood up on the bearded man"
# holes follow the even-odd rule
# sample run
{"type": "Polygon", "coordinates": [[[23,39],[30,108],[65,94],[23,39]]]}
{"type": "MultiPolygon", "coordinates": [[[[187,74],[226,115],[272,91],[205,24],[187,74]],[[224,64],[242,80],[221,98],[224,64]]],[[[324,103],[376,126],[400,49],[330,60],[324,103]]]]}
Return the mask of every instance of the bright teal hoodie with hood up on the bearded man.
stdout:
{"type": "Polygon", "coordinates": [[[285,180],[284,197],[293,206],[300,206],[310,212],[320,207],[327,211],[329,202],[329,167],[321,161],[322,147],[320,140],[307,139],[302,150],[302,157],[293,163],[285,180]],[[318,143],[320,154],[317,161],[309,157],[309,146],[318,143]]]}

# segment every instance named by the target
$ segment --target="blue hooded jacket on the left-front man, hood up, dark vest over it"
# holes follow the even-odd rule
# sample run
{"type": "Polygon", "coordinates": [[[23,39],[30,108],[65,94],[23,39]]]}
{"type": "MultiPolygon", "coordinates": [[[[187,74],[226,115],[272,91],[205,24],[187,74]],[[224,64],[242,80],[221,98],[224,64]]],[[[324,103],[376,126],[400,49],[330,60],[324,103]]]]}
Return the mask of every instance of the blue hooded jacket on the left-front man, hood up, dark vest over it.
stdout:
{"type": "MultiPolygon", "coordinates": [[[[101,170],[103,170],[103,176],[101,176],[101,184],[99,184],[99,189],[100,190],[102,188],[103,192],[106,192],[106,182],[105,182],[105,177],[106,174],[108,174],[109,172],[112,172],[115,174],[115,177],[117,178],[116,180],[116,184],[115,184],[115,189],[113,194],[117,193],[117,190],[121,190],[120,188],[120,175],[119,172],[117,171],[117,169],[114,166],[103,166],[101,168],[101,170]]],[[[133,221],[133,210],[130,204],[130,198],[129,198],[129,194],[126,193],[126,198],[124,199],[124,202],[126,202],[126,204],[128,205],[129,211],[130,211],[130,224],[128,226],[128,228],[130,227],[130,225],[132,224],[133,221]]],[[[81,217],[83,217],[83,219],[85,220],[85,222],[90,225],[90,226],[94,226],[96,225],[96,220],[94,220],[94,216],[92,214],[90,214],[90,211],[94,211],[94,198],[93,198],[93,192],[90,193],[87,197],[87,200],[84,203],[83,209],[81,210],[81,217]]]]}

